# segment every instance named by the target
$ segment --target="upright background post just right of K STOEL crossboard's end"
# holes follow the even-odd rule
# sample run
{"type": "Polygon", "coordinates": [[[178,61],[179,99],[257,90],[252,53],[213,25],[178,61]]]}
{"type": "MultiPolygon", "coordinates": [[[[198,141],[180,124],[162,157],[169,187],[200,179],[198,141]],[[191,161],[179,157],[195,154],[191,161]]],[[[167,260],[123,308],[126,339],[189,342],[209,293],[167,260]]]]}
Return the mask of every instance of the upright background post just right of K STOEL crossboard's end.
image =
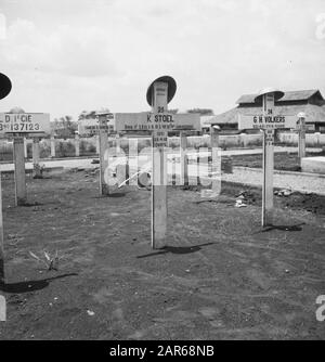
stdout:
{"type": "Polygon", "coordinates": [[[212,125],[210,126],[211,138],[211,174],[212,174],[212,197],[221,193],[221,157],[219,155],[219,131],[212,125]]]}

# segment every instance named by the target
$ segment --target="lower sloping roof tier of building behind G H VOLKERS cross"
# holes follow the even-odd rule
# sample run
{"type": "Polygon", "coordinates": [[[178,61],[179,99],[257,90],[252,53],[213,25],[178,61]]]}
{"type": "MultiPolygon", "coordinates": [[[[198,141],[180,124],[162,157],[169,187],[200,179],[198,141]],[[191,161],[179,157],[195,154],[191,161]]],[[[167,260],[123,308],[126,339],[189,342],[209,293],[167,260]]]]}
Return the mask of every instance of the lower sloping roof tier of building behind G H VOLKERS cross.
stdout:
{"type": "MultiPolygon", "coordinates": [[[[278,115],[297,115],[299,112],[304,112],[307,115],[306,121],[308,124],[325,122],[325,106],[320,107],[313,104],[284,105],[275,106],[275,112],[278,115]]],[[[256,113],[257,107],[235,107],[211,117],[211,119],[207,120],[205,125],[235,125],[238,122],[238,114],[253,115],[256,113]]]]}

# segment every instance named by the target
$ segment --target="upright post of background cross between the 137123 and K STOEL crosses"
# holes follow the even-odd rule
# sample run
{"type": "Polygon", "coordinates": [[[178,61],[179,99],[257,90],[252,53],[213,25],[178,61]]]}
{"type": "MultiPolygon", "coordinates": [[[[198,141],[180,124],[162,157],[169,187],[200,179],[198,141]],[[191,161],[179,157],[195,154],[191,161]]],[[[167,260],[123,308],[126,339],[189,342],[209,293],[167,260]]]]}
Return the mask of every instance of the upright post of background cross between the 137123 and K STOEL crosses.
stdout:
{"type": "Polygon", "coordinates": [[[107,134],[107,118],[106,115],[99,115],[99,151],[100,151],[100,194],[108,195],[108,184],[105,182],[105,169],[108,164],[108,158],[105,159],[105,152],[108,150],[108,134],[107,134]]]}

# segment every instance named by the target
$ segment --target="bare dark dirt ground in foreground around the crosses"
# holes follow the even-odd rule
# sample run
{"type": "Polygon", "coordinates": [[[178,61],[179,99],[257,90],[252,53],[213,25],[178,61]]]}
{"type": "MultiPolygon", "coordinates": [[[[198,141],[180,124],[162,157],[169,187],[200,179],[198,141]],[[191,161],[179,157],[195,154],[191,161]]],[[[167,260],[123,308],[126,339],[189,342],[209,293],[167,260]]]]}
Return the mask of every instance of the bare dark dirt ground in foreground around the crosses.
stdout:
{"type": "Polygon", "coordinates": [[[325,212],[303,203],[312,195],[276,197],[263,231],[258,189],[235,208],[235,185],[218,202],[170,188],[168,247],[152,250],[151,193],[99,197],[98,185],[84,171],[28,177],[30,204],[14,207],[3,180],[0,339],[325,339],[325,212]],[[58,271],[29,255],[42,250],[58,250],[58,271]]]}

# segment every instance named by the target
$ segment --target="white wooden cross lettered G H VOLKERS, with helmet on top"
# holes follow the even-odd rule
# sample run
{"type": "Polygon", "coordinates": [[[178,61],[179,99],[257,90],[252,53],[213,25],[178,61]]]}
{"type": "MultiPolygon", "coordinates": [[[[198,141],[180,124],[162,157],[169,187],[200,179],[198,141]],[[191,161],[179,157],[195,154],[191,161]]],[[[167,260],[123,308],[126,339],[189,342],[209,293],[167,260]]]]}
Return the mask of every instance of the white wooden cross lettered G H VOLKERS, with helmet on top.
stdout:
{"type": "Polygon", "coordinates": [[[274,170],[274,132],[275,129],[296,128],[296,115],[277,115],[275,101],[284,95],[275,89],[265,89],[256,98],[262,101],[262,112],[255,115],[239,115],[239,129],[260,129],[263,132],[263,191],[262,227],[273,223],[273,170],[274,170]]]}

